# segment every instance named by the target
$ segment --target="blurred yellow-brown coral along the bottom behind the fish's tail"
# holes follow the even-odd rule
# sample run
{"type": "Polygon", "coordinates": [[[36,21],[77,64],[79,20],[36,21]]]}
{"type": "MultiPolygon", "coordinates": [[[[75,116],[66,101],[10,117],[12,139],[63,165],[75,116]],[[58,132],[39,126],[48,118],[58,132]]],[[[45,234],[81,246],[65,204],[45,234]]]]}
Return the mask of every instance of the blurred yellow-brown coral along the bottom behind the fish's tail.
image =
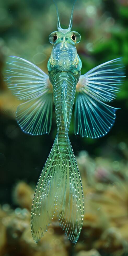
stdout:
{"type": "MultiPolygon", "coordinates": [[[[109,159],[92,159],[87,152],[77,157],[83,182],[85,213],[80,238],[73,247],[63,234],[55,216],[45,236],[35,244],[30,230],[30,211],[33,198],[32,188],[19,182],[13,190],[13,202],[19,207],[11,209],[4,204],[0,210],[1,256],[121,256],[128,253],[128,176],[114,171],[117,163],[109,159]],[[106,253],[106,254],[105,254],[106,253]]],[[[119,168],[118,168],[119,169],[119,168]]]]}

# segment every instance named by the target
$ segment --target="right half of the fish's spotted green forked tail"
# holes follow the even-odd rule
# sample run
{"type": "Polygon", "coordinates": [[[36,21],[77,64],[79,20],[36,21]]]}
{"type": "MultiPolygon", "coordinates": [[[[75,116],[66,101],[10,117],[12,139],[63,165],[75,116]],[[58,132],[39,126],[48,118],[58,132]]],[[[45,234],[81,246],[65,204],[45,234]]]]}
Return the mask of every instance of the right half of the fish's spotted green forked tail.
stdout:
{"type": "Polygon", "coordinates": [[[66,153],[67,159],[60,170],[56,209],[65,235],[76,243],[83,225],[84,200],[80,173],[69,139],[66,153]]]}

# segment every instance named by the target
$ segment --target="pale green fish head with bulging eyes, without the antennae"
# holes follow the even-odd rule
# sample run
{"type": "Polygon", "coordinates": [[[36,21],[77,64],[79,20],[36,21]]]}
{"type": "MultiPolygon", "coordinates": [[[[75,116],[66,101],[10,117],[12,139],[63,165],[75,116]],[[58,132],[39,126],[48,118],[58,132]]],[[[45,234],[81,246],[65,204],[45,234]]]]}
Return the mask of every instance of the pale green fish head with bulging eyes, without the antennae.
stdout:
{"type": "Polygon", "coordinates": [[[49,41],[54,45],[48,61],[48,71],[55,74],[69,71],[77,75],[81,71],[81,61],[75,45],[80,42],[80,34],[75,31],[62,33],[55,31],[50,34],[49,41]]]}

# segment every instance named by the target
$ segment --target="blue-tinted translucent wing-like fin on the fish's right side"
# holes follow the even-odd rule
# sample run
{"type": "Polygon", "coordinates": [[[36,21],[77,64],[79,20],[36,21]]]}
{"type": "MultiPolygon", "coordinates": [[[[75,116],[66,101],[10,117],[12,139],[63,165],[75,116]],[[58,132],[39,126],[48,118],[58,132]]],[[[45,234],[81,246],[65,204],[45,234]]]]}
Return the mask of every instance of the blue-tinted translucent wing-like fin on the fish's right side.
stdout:
{"type": "Polygon", "coordinates": [[[74,132],[81,136],[99,138],[108,133],[118,108],[108,106],[123,83],[121,58],[108,61],[80,76],[76,87],[74,132]]]}

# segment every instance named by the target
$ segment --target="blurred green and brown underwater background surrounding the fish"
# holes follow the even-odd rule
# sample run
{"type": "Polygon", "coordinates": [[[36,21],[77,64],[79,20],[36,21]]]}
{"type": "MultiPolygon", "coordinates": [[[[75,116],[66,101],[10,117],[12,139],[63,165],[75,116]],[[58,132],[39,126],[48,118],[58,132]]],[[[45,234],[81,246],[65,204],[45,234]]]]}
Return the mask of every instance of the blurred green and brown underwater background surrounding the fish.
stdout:
{"type": "MultiPolygon", "coordinates": [[[[56,1],[61,25],[67,28],[73,1],[56,1]]],[[[77,45],[82,74],[123,57],[128,66],[127,0],[78,0],[73,30],[81,34],[77,45]]],[[[56,136],[55,111],[50,134],[32,137],[15,121],[21,103],[4,83],[9,55],[22,57],[47,72],[57,29],[52,0],[0,2],[0,255],[1,256],[127,256],[128,255],[128,78],[111,106],[119,107],[115,124],[103,138],[69,138],[82,176],[85,213],[77,244],[65,237],[57,218],[35,244],[30,232],[30,211],[39,174],[56,136]]]]}

